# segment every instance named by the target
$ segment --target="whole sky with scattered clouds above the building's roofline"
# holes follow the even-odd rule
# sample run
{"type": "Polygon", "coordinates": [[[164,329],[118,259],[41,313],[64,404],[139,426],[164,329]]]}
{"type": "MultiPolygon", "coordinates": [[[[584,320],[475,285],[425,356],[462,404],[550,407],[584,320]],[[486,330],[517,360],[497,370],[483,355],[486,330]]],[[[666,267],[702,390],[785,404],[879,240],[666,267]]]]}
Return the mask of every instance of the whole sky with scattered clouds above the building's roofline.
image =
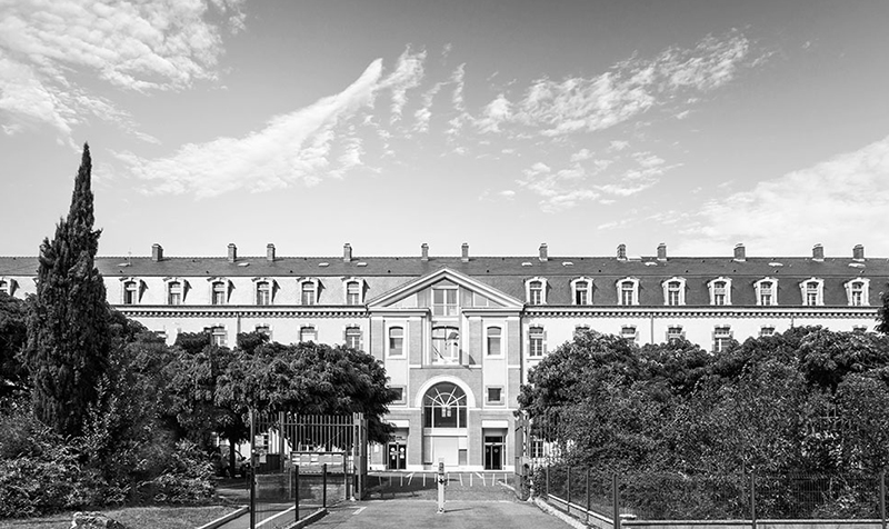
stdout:
{"type": "Polygon", "coordinates": [[[889,257],[885,0],[0,0],[0,254],[889,257]]]}

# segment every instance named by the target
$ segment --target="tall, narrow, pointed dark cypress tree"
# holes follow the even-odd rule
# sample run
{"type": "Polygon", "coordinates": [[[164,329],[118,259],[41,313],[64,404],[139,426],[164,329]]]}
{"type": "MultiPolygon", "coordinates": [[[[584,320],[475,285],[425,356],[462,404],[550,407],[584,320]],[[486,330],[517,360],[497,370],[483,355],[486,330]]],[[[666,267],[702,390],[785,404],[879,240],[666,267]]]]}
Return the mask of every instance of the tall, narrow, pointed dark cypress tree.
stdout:
{"type": "Polygon", "coordinates": [[[26,362],[37,417],[64,436],[82,431],[97,383],[108,368],[109,307],[94,267],[100,230],[93,231],[92,162],[83,157],[71,209],[56,237],[40,246],[37,297],[28,326],[26,362]]]}

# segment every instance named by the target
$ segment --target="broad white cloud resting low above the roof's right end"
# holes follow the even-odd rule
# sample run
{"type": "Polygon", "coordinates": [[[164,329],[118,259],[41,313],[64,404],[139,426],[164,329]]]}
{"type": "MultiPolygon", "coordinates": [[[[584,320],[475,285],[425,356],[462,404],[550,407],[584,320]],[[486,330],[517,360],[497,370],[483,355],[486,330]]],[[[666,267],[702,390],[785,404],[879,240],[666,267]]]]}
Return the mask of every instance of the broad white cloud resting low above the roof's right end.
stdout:
{"type": "Polygon", "coordinates": [[[708,202],[685,231],[681,249],[728,253],[737,242],[760,256],[805,254],[818,242],[828,254],[850,254],[859,242],[885,249],[887,211],[889,137],[708,202]]]}

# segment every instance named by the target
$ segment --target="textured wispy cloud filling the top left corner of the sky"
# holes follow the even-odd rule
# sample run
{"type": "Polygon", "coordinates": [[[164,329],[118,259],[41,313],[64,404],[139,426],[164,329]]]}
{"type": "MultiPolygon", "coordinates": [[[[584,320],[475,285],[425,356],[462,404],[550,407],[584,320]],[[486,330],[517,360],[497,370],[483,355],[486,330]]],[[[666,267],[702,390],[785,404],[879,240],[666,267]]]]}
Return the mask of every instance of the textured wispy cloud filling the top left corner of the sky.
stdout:
{"type": "MultiPolygon", "coordinates": [[[[216,79],[222,29],[240,29],[240,0],[80,2],[21,0],[0,10],[0,118],[8,132],[104,119],[134,132],[130,116],[77,82],[86,72],[123,90],[178,90],[216,79]]],[[[148,137],[143,137],[149,139],[148,137]]]]}

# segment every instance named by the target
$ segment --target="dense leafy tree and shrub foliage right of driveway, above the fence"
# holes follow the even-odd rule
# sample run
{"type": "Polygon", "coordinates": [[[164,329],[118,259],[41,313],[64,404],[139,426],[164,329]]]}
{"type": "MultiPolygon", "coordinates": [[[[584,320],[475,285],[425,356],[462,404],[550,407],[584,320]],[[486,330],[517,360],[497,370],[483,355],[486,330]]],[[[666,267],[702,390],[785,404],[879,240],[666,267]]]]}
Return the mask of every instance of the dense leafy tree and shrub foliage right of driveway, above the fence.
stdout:
{"type": "Polygon", "coordinates": [[[818,327],[711,355],[579,333],[519,402],[582,465],[688,475],[879,469],[889,457],[889,338],[818,327]]]}

